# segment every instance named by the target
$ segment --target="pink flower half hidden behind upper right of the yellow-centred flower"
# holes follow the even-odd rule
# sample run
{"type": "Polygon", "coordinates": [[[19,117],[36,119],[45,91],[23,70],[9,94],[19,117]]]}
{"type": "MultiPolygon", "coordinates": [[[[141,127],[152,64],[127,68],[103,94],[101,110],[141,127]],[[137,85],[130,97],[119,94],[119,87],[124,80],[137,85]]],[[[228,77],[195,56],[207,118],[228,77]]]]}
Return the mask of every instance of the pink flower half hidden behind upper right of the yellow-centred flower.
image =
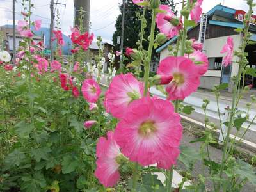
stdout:
{"type": "Polygon", "coordinates": [[[198,68],[198,73],[200,76],[204,75],[205,72],[207,72],[209,61],[204,53],[202,53],[201,51],[194,51],[192,54],[185,54],[185,57],[191,59],[195,63],[195,66],[196,68],[198,68]]]}

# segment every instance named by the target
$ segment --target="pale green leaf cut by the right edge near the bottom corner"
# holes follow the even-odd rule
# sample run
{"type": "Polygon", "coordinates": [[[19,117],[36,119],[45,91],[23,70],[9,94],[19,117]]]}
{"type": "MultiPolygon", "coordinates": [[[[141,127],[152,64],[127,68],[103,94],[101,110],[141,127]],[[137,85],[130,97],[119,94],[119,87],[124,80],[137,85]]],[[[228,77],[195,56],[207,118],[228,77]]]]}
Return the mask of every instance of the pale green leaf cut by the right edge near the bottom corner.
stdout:
{"type": "Polygon", "coordinates": [[[250,183],[256,186],[256,170],[250,164],[237,159],[237,166],[234,171],[242,177],[241,179],[247,178],[250,183]]]}

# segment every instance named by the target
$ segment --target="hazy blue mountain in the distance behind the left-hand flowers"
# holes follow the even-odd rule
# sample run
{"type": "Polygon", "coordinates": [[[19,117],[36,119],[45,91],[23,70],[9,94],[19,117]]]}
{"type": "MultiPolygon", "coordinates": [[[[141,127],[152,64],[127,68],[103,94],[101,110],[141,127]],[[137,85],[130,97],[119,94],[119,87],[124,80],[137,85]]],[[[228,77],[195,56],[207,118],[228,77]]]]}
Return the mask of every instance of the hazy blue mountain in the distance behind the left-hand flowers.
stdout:
{"type": "MultiPolygon", "coordinates": [[[[12,25],[4,25],[5,28],[12,28],[12,25]]],[[[39,31],[33,30],[36,36],[41,36],[44,34],[45,36],[45,46],[49,48],[50,42],[50,30],[49,28],[41,28],[39,31]]],[[[63,34],[63,40],[65,41],[65,45],[63,46],[63,54],[71,54],[70,49],[72,49],[72,42],[70,38],[63,34]]],[[[56,41],[54,42],[54,47],[56,47],[56,41]]]]}

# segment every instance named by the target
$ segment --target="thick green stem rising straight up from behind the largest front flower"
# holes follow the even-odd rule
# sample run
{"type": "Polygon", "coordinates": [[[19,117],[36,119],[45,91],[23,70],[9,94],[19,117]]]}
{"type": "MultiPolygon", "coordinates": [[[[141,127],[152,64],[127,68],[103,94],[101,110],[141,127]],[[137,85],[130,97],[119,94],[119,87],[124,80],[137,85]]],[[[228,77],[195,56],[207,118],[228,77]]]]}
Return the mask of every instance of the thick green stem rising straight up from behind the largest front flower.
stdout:
{"type": "Polygon", "coordinates": [[[150,42],[148,46],[148,57],[145,61],[145,74],[144,74],[144,82],[145,82],[145,89],[144,89],[144,95],[147,95],[148,92],[148,78],[149,78],[149,69],[150,69],[150,63],[152,58],[152,49],[154,45],[154,34],[155,34],[155,28],[156,28],[156,10],[153,10],[152,12],[152,20],[151,20],[151,30],[150,30],[150,42]]]}

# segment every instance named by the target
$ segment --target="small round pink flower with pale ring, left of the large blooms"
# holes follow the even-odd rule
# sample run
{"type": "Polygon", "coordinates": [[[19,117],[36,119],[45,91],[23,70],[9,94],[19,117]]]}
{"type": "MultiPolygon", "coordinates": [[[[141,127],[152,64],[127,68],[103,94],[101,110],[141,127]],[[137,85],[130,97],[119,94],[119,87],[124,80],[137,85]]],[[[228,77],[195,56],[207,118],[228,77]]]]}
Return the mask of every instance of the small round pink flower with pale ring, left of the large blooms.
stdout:
{"type": "Polygon", "coordinates": [[[86,79],[82,85],[84,99],[88,102],[97,102],[100,97],[100,86],[94,79],[86,79]]]}

